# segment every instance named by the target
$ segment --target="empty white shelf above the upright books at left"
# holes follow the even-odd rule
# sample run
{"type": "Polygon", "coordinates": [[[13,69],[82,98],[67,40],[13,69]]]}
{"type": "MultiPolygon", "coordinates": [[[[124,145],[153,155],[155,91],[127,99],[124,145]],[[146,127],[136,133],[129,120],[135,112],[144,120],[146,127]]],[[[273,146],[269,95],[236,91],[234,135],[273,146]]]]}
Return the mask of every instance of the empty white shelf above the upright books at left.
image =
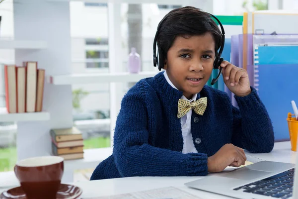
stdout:
{"type": "Polygon", "coordinates": [[[28,40],[0,40],[0,49],[45,49],[45,41],[28,41],[28,40]]]}

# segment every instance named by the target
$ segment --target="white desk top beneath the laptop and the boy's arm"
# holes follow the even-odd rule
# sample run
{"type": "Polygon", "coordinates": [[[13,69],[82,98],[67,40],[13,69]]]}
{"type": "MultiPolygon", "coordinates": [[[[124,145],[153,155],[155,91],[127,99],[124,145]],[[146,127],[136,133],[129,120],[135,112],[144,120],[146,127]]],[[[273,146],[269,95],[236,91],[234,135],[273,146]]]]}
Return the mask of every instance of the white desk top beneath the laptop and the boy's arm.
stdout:
{"type": "MultiPolygon", "coordinates": [[[[291,151],[290,142],[277,142],[271,153],[267,154],[250,154],[248,155],[277,162],[294,163],[296,160],[296,152],[291,151]]],[[[131,192],[145,191],[149,189],[157,189],[163,187],[177,187],[190,194],[196,195],[203,199],[228,199],[228,197],[215,195],[199,190],[194,190],[184,186],[184,183],[207,177],[131,177],[120,179],[108,179],[89,182],[74,183],[74,185],[82,188],[81,197],[99,197],[117,194],[125,194],[131,192]]]]}

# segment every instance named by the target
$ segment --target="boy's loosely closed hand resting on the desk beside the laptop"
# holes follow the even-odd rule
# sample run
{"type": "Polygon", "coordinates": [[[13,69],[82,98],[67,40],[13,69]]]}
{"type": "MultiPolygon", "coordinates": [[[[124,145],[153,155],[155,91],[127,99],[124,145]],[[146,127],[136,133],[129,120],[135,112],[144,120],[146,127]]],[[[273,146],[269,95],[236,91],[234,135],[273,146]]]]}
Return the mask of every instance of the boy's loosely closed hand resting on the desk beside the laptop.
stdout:
{"type": "Polygon", "coordinates": [[[239,167],[244,165],[246,156],[244,150],[233,144],[225,144],[216,154],[208,158],[208,172],[223,171],[227,166],[239,167]]]}

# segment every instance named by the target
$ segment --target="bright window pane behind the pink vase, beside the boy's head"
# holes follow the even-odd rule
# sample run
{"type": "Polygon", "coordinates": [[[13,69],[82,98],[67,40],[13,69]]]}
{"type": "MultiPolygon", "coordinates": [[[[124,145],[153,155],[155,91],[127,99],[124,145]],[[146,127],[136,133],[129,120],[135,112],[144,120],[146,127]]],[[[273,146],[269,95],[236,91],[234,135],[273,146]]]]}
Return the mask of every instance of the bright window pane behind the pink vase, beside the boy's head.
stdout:
{"type": "Polygon", "coordinates": [[[156,28],[164,15],[176,7],[181,5],[121,4],[121,15],[125,19],[121,24],[123,69],[127,71],[129,54],[134,47],[142,60],[141,71],[156,70],[152,62],[152,44],[156,28]]]}

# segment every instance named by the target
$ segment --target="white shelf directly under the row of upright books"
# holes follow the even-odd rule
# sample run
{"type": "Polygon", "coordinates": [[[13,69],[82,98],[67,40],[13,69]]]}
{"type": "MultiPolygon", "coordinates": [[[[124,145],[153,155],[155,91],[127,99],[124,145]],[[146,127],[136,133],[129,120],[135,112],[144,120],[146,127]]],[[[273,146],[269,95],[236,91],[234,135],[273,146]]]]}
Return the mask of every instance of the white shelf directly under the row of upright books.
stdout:
{"type": "Polygon", "coordinates": [[[50,119],[48,112],[7,113],[6,108],[0,108],[0,122],[45,121],[50,119]]]}

